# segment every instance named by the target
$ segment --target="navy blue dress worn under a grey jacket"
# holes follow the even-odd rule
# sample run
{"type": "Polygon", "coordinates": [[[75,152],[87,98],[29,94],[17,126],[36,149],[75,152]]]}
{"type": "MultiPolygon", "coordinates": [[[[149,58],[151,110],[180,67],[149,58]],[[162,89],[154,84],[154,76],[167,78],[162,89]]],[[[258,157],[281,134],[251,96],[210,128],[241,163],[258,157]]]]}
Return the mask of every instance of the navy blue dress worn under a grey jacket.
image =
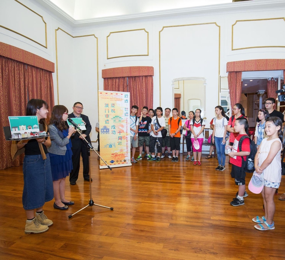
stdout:
{"type": "MultiPolygon", "coordinates": [[[[62,131],[64,138],[68,136],[68,129],[62,131]]],[[[69,173],[73,169],[72,167],[72,150],[71,141],[66,145],[65,155],[57,155],[49,153],[50,155],[50,166],[53,181],[57,181],[62,178],[69,176],[69,173]]]]}

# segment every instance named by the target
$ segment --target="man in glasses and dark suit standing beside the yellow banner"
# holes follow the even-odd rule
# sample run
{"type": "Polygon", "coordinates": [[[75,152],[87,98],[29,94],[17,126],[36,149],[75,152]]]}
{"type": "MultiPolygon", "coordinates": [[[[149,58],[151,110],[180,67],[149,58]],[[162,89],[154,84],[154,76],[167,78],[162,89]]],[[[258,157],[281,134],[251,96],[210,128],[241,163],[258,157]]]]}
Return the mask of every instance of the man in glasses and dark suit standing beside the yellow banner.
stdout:
{"type": "MultiPolygon", "coordinates": [[[[85,137],[85,139],[91,143],[90,139],[90,132],[91,132],[91,124],[89,121],[89,118],[86,115],[81,114],[83,111],[83,105],[80,102],[74,103],[73,107],[73,113],[68,114],[68,118],[75,118],[75,117],[81,117],[82,120],[85,122],[86,130],[82,131],[82,135],[85,137]]],[[[78,179],[79,174],[79,168],[80,168],[80,155],[82,156],[82,162],[83,162],[83,178],[84,180],[89,182],[89,154],[90,154],[90,148],[87,146],[85,140],[82,138],[81,135],[79,135],[78,132],[75,132],[74,136],[71,137],[71,143],[72,143],[72,164],[73,164],[73,170],[71,171],[69,175],[69,182],[70,185],[75,185],[76,181],[78,179]]],[[[91,179],[92,181],[92,179],[91,179]]]]}

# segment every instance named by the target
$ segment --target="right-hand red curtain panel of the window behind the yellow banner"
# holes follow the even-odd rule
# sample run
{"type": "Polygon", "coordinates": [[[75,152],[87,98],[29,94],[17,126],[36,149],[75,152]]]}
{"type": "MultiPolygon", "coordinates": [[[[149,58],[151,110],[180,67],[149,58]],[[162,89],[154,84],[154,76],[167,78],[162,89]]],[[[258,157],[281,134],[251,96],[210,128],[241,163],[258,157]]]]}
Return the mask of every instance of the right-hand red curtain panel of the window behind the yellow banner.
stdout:
{"type": "Polygon", "coordinates": [[[130,107],[139,107],[138,114],[143,106],[153,108],[153,76],[128,77],[128,91],[130,92],[130,107]]]}

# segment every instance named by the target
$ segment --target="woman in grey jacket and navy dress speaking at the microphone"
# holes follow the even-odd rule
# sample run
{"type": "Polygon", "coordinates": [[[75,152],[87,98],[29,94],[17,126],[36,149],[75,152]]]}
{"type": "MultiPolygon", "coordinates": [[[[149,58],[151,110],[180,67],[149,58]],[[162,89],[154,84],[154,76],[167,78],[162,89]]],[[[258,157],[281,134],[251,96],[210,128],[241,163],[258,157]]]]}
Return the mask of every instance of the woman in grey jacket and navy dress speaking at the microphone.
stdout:
{"type": "Polygon", "coordinates": [[[54,208],[60,210],[66,210],[74,204],[65,198],[65,178],[73,168],[70,137],[76,131],[73,126],[68,127],[67,118],[68,110],[65,106],[54,106],[50,117],[51,146],[48,151],[54,186],[54,208]]]}

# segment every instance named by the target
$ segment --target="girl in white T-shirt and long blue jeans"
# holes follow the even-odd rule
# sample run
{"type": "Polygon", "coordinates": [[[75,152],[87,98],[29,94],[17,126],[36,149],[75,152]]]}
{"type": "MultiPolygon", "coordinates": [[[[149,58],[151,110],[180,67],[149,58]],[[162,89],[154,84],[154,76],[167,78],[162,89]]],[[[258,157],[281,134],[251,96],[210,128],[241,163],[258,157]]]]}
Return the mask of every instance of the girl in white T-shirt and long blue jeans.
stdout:
{"type": "Polygon", "coordinates": [[[225,147],[226,147],[226,134],[228,120],[226,119],[224,108],[221,106],[215,107],[217,117],[213,120],[213,135],[212,141],[215,143],[219,165],[215,170],[224,171],[225,168],[225,147]]]}

